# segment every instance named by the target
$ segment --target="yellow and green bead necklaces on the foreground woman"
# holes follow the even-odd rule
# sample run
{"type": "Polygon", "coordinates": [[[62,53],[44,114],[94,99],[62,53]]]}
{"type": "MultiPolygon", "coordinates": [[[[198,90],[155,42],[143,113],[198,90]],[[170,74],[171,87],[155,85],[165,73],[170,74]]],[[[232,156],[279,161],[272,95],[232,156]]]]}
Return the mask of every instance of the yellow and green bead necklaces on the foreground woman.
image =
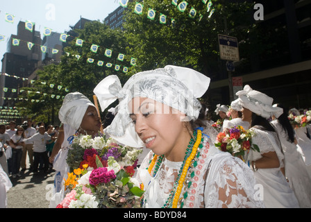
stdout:
{"type": "MultiPolygon", "coordinates": [[[[198,151],[198,148],[203,148],[203,139],[201,129],[194,131],[194,139],[192,138],[187,146],[187,151],[185,152],[185,158],[183,160],[183,164],[180,167],[180,171],[178,172],[178,176],[176,181],[174,182],[173,189],[169,194],[165,204],[162,208],[172,207],[177,208],[178,203],[182,208],[184,205],[184,200],[187,198],[187,191],[183,194],[182,198],[180,197],[181,191],[183,190],[183,186],[186,185],[186,189],[190,188],[192,182],[190,180],[186,180],[187,173],[190,178],[194,177],[194,171],[192,168],[197,166],[197,160],[200,156],[201,151],[198,151]],[[194,141],[195,140],[195,141],[194,141]]],[[[149,167],[147,168],[150,175],[154,178],[160,169],[160,165],[162,164],[162,160],[164,155],[153,155],[152,160],[149,162],[149,167]],[[152,173],[153,170],[153,173],[152,173]]]]}

